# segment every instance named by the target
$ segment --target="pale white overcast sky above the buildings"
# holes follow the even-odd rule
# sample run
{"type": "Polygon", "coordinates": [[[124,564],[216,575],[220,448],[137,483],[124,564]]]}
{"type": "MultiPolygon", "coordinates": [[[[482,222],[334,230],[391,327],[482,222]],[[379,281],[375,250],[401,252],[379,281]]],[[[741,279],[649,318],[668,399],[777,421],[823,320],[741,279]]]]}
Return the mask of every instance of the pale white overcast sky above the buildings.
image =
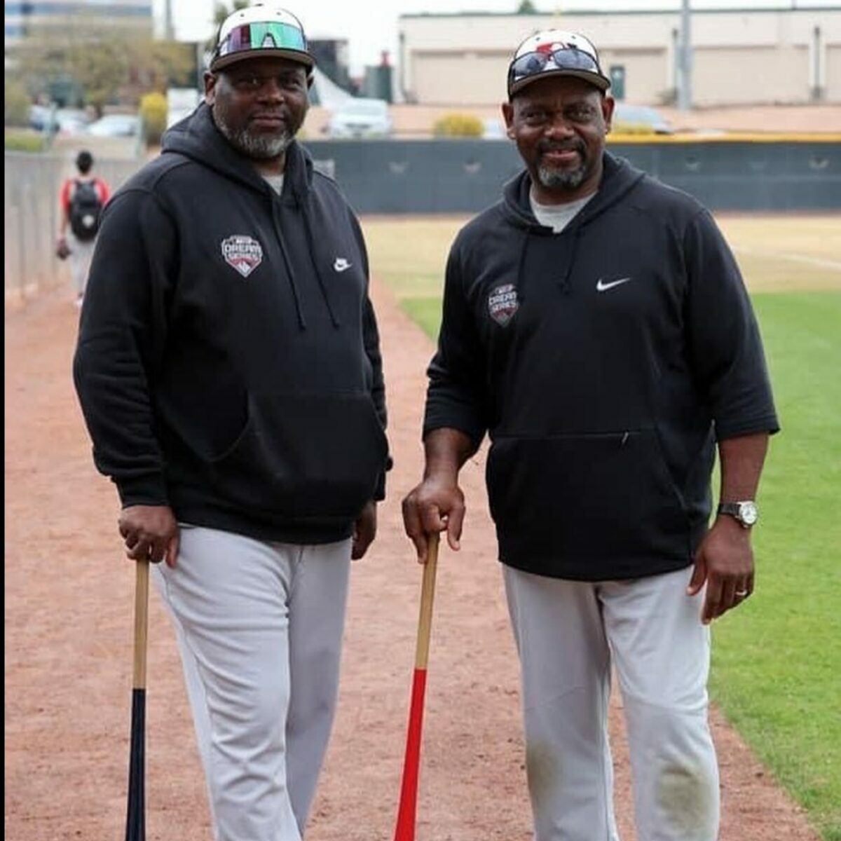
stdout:
{"type": "MultiPolygon", "coordinates": [[[[204,40],[213,31],[214,0],[169,0],[179,40],[204,40]]],[[[163,18],[167,0],[153,0],[156,18],[163,18]]],[[[519,0],[281,0],[278,5],[294,12],[309,38],[346,38],[351,71],[358,75],[369,64],[378,64],[382,50],[392,63],[397,51],[397,18],[421,12],[513,12],[519,0]]],[[[677,9],[680,0],[534,0],[545,13],[589,9],[677,9]]],[[[692,8],[838,8],[839,0],[692,0],[692,8]]]]}

